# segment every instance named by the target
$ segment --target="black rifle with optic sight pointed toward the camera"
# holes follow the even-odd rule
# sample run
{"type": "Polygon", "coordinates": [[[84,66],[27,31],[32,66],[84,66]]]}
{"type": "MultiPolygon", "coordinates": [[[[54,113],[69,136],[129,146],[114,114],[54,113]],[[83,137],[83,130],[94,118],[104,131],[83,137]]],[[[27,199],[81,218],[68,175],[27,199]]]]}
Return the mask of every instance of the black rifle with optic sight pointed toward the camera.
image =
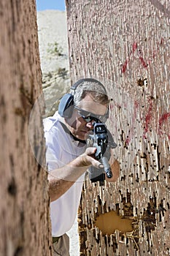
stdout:
{"type": "Polygon", "coordinates": [[[104,185],[105,174],[107,178],[112,178],[112,170],[109,165],[110,148],[116,148],[117,144],[112,138],[112,134],[104,123],[93,124],[93,135],[89,135],[88,146],[96,147],[96,159],[104,167],[89,167],[89,178],[91,182],[99,181],[100,186],[104,185]]]}

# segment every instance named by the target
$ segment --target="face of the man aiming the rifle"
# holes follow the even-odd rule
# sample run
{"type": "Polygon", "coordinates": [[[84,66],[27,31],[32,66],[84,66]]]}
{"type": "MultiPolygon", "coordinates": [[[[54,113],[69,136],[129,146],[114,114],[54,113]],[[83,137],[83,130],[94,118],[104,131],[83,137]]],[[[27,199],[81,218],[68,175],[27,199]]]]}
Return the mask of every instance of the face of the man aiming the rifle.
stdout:
{"type": "MultiPolygon", "coordinates": [[[[104,116],[107,112],[107,105],[101,105],[100,103],[94,102],[93,97],[90,94],[86,95],[77,107],[95,115],[104,116]]],[[[69,124],[69,130],[74,137],[80,140],[86,140],[86,138],[88,138],[88,133],[93,129],[93,121],[95,120],[85,121],[80,115],[80,111],[74,108],[72,117],[67,119],[66,123],[69,124]]]]}

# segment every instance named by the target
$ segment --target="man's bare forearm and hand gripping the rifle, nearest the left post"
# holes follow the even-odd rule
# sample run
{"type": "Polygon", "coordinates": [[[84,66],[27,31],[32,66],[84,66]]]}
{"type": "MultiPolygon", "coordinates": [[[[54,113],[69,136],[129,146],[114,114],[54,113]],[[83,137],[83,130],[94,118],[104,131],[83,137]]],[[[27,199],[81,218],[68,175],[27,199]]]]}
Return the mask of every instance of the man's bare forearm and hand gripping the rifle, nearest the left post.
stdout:
{"type": "Polygon", "coordinates": [[[85,173],[85,170],[87,170],[90,165],[97,168],[101,165],[101,162],[98,162],[93,157],[95,152],[96,148],[87,148],[84,154],[81,154],[72,162],[69,162],[69,164],[50,171],[48,180],[51,201],[57,200],[72,187],[74,182],[85,173]]]}

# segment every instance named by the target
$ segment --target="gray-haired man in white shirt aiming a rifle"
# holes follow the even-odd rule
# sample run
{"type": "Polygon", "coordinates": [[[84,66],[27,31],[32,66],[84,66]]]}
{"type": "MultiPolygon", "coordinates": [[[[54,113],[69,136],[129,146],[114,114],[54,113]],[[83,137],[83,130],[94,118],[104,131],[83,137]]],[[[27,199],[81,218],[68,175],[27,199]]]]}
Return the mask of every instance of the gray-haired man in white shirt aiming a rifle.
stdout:
{"type": "MultiPolygon", "coordinates": [[[[44,121],[53,255],[64,256],[69,255],[66,232],[77,215],[85,171],[91,165],[101,166],[94,157],[96,148],[87,148],[85,140],[93,129],[93,122],[105,122],[109,111],[107,92],[98,80],[82,79],[71,89],[71,94],[61,99],[58,112],[44,121]]],[[[116,181],[119,166],[111,162],[111,167],[110,181],[116,181]]]]}

